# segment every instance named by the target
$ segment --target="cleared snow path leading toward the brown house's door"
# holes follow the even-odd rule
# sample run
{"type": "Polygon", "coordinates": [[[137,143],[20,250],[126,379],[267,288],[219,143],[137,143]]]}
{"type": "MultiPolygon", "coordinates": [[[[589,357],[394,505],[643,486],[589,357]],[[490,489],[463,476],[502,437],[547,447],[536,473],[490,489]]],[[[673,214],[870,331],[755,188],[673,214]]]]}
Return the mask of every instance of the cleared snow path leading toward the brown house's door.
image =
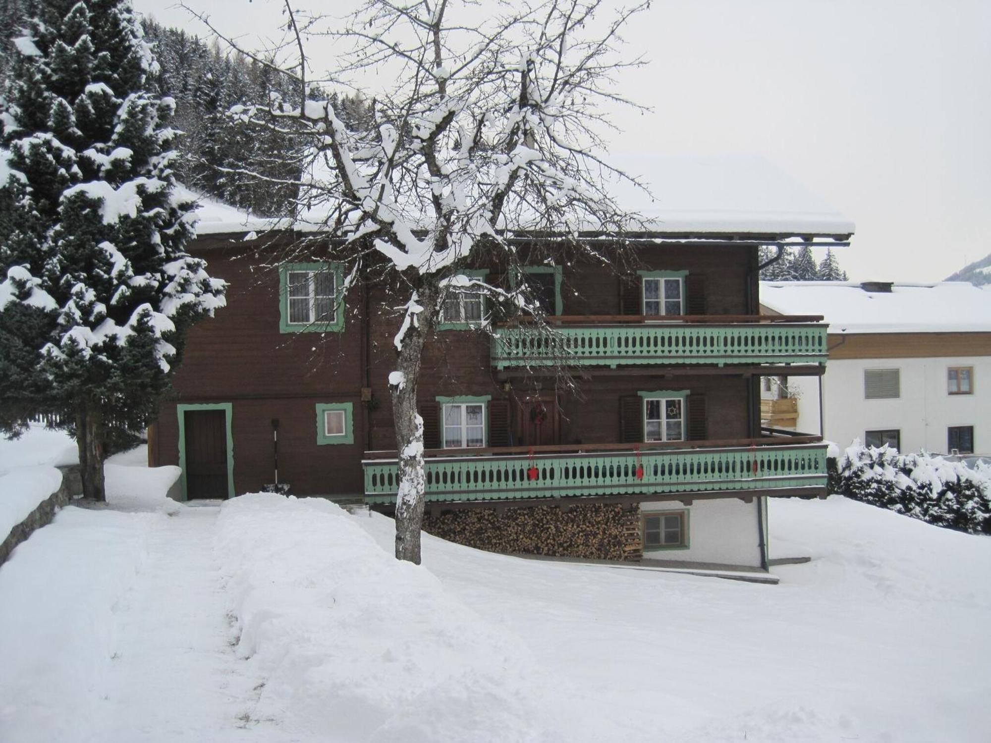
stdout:
{"type": "Polygon", "coordinates": [[[260,680],[234,652],[213,554],[219,510],[181,508],[150,535],[137,580],[114,609],[116,652],[94,743],[282,739],[254,720],[260,680]]]}

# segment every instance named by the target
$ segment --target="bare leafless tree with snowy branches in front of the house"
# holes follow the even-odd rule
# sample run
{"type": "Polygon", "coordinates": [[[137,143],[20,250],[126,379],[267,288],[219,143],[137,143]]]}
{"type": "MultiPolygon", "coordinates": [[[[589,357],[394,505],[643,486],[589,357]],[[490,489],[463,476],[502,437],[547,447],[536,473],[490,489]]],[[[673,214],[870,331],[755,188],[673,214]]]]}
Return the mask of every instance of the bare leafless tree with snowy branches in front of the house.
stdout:
{"type": "Polygon", "coordinates": [[[605,105],[625,102],[615,78],[639,63],[617,56],[619,30],[646,3],[607,20],[599,0],[496,7],[371,0],[341,28],[286,2],[288,44],[266,58],[293,51],[294,66],[282,71],[309,92],[306,44],[333,45],[339,66],[328,78],[365,87],[372,116],[348,122],[330,100],[299,107],[274,98],[234,110],[248,126],[309,138],[288,216],[320,238],[287,259],[305,260],[301,251],[319,245],[345,265],[345,291],[359,281],[385,286],[397,308],[389,377],[399,469],[395,555],[414,563],[426,485],[416,392],[424,344],[445,300],[479,292],[503,311],[525,305],[539,319],[536,289],[519,271],[519,240],[540,235],[530,260],[589,260],[607,270],[627,260],[622,236],[642,227],[609,196],[610,181],[622,175],[602,159],[599,132],[605,105]],[[369,79],[383,87],[368,89],[369,79]],[[506,266],[520,278],[516,288],[497,286],[469,277],[472,265],[506,266]]]}

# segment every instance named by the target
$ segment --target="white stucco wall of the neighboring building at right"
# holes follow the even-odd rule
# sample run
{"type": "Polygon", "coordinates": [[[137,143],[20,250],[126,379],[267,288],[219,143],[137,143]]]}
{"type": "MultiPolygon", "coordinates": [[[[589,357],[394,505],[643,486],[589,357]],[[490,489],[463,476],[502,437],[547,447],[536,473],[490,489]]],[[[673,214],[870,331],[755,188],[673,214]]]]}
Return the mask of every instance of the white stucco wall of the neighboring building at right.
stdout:
{"type": "MultiPolygon", "coordinates": [[[[811,385],[799,400],[799,428],[818,426],[819,401],[814,378],[796,382],[811,385]]],[[[845,447],[854,438],[863,441],[866,431],[898,429],[902,451],[926,450],[946,454],[946,429],[974,427],[974,451],[991,453],[991,357],[941,357],[928,359],[851,359],[829,361],[823,379],[826,439],[845,447]],[[973,367],[973,393],[951,395],[947,391],[949,367],[973,367]],[[864,370],[898,369],[901,396],[868,400],[864,397],[864,370]]]]}

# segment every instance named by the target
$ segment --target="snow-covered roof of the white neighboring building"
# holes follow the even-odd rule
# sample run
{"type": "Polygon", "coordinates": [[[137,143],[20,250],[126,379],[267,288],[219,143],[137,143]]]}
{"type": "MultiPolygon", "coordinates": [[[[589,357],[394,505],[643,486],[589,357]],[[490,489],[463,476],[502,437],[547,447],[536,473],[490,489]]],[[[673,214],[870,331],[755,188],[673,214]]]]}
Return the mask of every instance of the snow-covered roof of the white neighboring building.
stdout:
{"type": "Polygon", "coordinates": [[[785,315],[823,315],[830,333],[991,332],[991,293],[966,281],[894,283],[761,281],[760,303],[785,315]]]}

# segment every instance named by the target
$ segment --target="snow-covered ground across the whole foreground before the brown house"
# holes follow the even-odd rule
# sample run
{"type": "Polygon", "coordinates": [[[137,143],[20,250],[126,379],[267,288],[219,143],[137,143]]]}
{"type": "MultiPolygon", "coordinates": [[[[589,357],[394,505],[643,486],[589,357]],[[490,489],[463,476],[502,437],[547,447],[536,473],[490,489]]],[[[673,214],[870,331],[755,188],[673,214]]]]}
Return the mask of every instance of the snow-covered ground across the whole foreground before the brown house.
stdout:
{"type": "Polygon", "coordinates": [[[415,568],[384,516],[168,515],[127,462],[0,568],[4,743],[987,740],[986,537],[831,497],[772,504],[813,558],[776,586],[429,536],[415,568]]]}

